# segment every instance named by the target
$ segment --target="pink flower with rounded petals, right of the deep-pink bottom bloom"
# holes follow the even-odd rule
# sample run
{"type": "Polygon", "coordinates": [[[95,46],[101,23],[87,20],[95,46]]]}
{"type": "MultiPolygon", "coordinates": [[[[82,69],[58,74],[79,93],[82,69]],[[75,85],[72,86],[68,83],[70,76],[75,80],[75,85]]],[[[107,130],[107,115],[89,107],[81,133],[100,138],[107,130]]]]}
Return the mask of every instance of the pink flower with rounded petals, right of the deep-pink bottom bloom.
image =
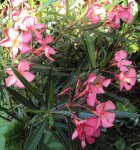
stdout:
{"type": "Polygon", "coordinates": [[[101,103],[96,107],[95,114],[99,116],[99,120],[103,127],[110,128],[113,126],[115,113],[109,111],[114,109],[116,109],[116,107],[110,100],[101,103]]]}

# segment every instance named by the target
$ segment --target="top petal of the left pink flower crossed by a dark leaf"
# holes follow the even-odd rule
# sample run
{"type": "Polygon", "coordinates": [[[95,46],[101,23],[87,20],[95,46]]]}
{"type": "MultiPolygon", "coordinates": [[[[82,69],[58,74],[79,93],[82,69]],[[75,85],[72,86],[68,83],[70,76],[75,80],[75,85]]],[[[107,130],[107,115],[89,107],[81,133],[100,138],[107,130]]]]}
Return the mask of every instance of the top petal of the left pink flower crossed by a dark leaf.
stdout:
{"type": "Polygon", "coordinates": [[[29,67],[29,63],[26,60],[22,60],[20,61],[19,65],[18,65],[18,71],[29,71],[30,67],[29,67]]]}

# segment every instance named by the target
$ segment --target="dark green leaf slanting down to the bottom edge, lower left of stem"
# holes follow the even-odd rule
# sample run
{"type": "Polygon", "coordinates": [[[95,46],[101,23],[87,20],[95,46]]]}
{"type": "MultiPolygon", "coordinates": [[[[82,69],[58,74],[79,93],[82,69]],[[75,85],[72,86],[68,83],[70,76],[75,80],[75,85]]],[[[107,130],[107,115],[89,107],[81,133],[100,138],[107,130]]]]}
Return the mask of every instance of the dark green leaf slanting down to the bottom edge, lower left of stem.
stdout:
{"type": "Polygon", "coordinates": [[[42,137],[46,125],[46,120],[33,132],[24,145],[23,150],[36,150],[37,145],[42,137]]]}

